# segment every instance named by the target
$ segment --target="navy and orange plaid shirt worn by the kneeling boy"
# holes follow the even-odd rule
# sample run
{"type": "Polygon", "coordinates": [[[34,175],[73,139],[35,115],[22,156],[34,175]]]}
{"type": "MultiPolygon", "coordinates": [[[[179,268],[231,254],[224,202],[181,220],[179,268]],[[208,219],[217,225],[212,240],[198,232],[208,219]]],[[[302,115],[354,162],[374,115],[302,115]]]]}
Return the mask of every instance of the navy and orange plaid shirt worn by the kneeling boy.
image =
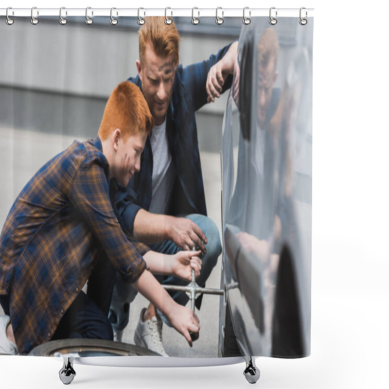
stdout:
{"type": "Polygon", "coordinates": [[[99,138],[74,141],[20,192],[0,236],[0,294],[8,295],[20,354],[47,342],[105,250],[128,283],[147,246],[120,227],[99,138]]]}

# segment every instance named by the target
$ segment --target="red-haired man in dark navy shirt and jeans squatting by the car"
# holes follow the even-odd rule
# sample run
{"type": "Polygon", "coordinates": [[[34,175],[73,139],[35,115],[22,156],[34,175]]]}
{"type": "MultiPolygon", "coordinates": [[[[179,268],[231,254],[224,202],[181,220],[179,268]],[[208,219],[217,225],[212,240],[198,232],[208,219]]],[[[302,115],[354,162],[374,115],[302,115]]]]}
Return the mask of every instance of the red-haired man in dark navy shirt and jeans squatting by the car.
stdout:
{"type": "MultiPolygon", "coordinates": [[[[197,141],[195,111],[230,88],[237,42],[216,55],[183,68],[178,65],[179,35],[164,18],[145,18],[139,31],[138,75],[129,81],[144,94],[155,120],[142,154],[141,171],[116,196],[120,222],[140,242],[159,252],[199,248],[203,253],[197,283],[204,286],[221,253],[219,231],[207,215],[197,141]],[[184,216],[184,217],[183,217],[184,216]]],[[[164,283],[179,284],[175,279],[164,283]]],[[[185,293],[172,293],[185,305],[185,293]]],[[[121,339],[128,323],[133,290],[120,280],[115,284],[110,319],[121,339]]],[[[196,300],[199,309],[202,296],[196,300]]],[[[135,343],[166,354],[162,320],[169,321],[150,304],[142,310],[135,343]]]]}

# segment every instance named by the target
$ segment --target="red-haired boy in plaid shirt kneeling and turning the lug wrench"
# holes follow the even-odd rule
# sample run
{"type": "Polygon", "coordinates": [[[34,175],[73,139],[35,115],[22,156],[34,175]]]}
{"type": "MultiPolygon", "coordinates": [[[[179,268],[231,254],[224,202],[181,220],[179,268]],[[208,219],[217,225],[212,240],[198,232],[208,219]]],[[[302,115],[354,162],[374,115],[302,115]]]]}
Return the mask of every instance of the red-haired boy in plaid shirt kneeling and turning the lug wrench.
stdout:
{"type": "Polygon", "coordinates": [[[112,340],[107,314],[115,271],[192,345],[189,332],[198,332],[198,318],[148,270],[190,280],[192,269],[199,274],[200,251],[154,253],[121,229],[110,201],[109,179],[125,186],[140,170],[152,126],[139,88],[121,83],[108,99],[98,137],[74,141],[18,195],[0,236],[2,354],[28,354],[53,339],[112,340]]]}

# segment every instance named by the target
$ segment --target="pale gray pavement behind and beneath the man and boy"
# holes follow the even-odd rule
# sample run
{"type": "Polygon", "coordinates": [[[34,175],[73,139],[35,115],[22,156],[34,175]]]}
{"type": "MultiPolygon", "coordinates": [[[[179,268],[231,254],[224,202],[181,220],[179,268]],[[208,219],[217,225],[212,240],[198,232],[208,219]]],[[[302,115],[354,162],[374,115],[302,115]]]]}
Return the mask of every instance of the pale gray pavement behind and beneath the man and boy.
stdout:
{"type": "MultiPolygon", "coordinates": [[[[73,136],[62,134],[0,127],[0,228],[16,196],[36,170],[70,145],[73,140],[73,136]]],[[[208,215],[221,231],[220,154],[200,151],[200,157],[208,215]]],[[[221,257],[212,271],[207,287],[220,287],[220,271],[221,257]]],[[[217,356],[219,299],[219,296],[204,296],[202,308],[196,312],[200,318],[200,337],[194,342],[193,348],[190,348],[185,338],[174,329],[163,326],[163,343],[169,355],[217,356]]],[[[133,335],[141,309],[147,305],[148,301],[138,294],[130,307],[130,322],[124,331],[123,341],[133,343],[133,335]]],[[[1,308],[0,314],[3,314],[1,308]]]]}

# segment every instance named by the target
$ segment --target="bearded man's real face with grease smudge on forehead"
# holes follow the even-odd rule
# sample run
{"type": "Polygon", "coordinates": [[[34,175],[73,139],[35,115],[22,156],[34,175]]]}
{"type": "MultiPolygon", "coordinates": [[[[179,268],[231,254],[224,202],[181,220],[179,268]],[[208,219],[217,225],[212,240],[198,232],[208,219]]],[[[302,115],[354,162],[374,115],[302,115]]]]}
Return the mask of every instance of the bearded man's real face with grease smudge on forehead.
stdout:
{"type": "Polygon", "coordinates": [[[142,82],[143,95],[154,117],[155,124],[165,120],[173,93],[175,77],[174,54],[159,57],[147,44],[142,63],[137,61],[137,69],[142,82]]]}

